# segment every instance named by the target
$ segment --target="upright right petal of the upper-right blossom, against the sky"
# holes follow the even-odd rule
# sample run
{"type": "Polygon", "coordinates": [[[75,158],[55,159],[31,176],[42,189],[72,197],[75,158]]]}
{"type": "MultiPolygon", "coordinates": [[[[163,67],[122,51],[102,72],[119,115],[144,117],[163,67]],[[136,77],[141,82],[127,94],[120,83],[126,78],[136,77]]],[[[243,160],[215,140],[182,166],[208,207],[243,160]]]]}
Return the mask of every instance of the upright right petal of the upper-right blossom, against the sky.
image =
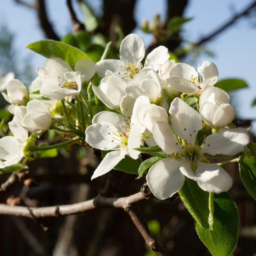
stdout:
{"type": "Polygon", "coordinates": [[[219,72],[213,62],[205,60],[198,65],[197,71],[203,77],[203,83],[200,84],[201,89],[204,90],[218,82],[219,72]]]}

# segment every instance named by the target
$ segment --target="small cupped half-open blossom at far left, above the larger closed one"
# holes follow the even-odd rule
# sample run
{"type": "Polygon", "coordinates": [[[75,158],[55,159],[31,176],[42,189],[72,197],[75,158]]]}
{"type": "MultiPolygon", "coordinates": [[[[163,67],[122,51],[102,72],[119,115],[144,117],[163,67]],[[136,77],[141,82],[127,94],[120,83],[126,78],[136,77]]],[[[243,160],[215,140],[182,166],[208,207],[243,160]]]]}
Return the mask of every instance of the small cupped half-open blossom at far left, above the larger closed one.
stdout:
{"type": "Polygon", "coordinates": [[[28,101],[28,89],[18,79],[12,79],[7,84],[7,94],[2,92],[4,99],[10,104],[25,105],[28,101]]]}

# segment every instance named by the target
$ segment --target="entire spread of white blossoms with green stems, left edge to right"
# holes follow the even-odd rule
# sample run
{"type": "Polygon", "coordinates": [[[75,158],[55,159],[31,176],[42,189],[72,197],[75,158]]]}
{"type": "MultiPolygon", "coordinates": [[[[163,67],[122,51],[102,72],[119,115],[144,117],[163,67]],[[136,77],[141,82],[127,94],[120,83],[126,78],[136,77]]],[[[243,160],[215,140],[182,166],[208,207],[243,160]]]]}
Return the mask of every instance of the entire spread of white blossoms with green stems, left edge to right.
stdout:
{"type": "Polygon", "coordinates": [[[35,138],[52,129],[68,140],[56,148],[85,140],[107,151],[92,179],[124,158],[141,162],[146,152],[158,156],[146,168],[146,179],[159,199],[182,189],[185,179],[211,193],[228,191],[231,177],[207,158],[236,155],[250,138],[246,129],[231,123],[235,110],[228,94],[215,86],[216,65],[204,61],[196,71],[170,60],[164,46],[146,57],[145,52],[143,39],[130,34],[121,42],[120,60],[103,58],[94,64],[82,58],[70,65],[49,58],[29,88],[12,73],[1,78],[13,118],[10,132],[0,139],[0,169],[47,150],[37,147],[35,138]]]}

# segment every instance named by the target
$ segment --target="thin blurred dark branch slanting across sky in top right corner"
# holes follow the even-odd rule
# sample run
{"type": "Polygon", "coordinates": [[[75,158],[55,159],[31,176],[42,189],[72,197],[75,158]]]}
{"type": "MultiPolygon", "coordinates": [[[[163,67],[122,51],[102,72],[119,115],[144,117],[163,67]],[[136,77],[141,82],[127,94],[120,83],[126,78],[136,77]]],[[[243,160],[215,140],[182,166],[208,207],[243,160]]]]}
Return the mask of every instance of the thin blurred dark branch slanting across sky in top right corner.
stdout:
{"type": "Polygon", "coordinates": [[[216,35],[220,34],[224,30],[226,30],[228,27],[233,25],[235,23],[235,21],[237,21],[239,18],[247,15],[251,11],[251,9],[253,9],[255,6],[256,6],[256,1],[253,1],[252,4],[250,4],[247,8],[245,8],[241,13],[236,14],[235,16],[233,16],[230,19],[230,21],[224,23],[221,27],[219,27],[218,29],[216,29],[215,31],[210,33],[209,35],[201,38],[197,43],[194,44],[194,46],[199,46],[199,45],[211,40],[213,37],[215,37],[216,35]]]}

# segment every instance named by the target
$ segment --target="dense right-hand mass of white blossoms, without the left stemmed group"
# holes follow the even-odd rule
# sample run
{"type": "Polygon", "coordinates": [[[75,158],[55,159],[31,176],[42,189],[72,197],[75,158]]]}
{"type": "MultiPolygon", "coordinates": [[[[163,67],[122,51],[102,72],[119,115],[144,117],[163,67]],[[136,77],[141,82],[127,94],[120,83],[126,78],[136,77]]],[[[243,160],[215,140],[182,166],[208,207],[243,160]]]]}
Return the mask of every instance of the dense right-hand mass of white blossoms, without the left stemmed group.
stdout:
{"type": "Polygon", "coordinates": [[[164,46],[150,52],[143,65],[144,56],[142,38],[131,34],[121,43],[120,60],[96,63],[102,80],[93,91],[117,112],[98,113],[86,129],[89,145],[111,150],[92,179],[109,172],[126,155],[138,159],[140,145],[158,145],[164,153],[160,154],[162,160],[146,176],[157,198],[172,196],[186,178],[204,191],[228,191],[232,178],[207,157],[236,155],[250,138],[246,129],[230,125],[235,110],[228,94],[214,86],[218,82],[216,65],[204,61],[196,71],[186,63],[169,60],[164,46]],[[194,106],[189,100],[194,100],[194,106]]]}

